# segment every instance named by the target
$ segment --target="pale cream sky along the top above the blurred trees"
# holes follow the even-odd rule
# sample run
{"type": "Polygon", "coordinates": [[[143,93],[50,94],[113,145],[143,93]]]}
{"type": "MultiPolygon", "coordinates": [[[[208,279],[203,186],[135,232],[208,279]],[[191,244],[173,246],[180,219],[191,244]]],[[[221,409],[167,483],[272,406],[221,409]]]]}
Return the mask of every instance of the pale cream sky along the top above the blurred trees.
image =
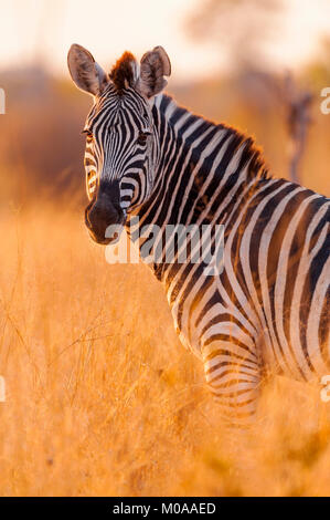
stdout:
{"type": "MultiPolygon", "coordinates": [[[[66,74],[72,43],[86,46],[106,69],[125,50],[140,58],[162,45],[182,81],[212,75],[226,64],[220,45],[192,41],[184,20],[203,0],[0,0],[0,70],[38,58],[66,74]]],[[[330,34],[330,0],[286,0],[280,35],[268,50],[279,67],[295,67],[330,34]]],[[[230,28],[228,28],[230,30],[230,28]]]]}

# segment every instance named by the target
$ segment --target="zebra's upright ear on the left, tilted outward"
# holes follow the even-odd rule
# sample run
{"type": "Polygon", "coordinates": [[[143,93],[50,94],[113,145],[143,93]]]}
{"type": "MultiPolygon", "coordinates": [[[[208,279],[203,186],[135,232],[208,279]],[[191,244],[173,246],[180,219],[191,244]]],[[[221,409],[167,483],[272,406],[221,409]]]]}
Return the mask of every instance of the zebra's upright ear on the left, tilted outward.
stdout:
{"type": "Polygon", "coordinates": [[[70,48],[67,66],[76,86],[94,96],[100,95],[109,82],[107,74],[96,63],[91,52],[77,43],[70,48]]]}

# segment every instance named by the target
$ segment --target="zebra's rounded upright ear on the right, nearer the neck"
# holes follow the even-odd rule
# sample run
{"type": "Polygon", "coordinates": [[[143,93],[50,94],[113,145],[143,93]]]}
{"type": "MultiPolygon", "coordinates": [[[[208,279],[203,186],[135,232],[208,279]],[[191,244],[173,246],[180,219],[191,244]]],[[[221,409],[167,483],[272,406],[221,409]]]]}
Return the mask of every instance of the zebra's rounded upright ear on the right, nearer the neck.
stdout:
{"type": "Polygon", "coordinates": [[[168,84],[163,76],[171,75],[171,62],[162,46],[146,52],[140,63],[137,90],[145,97],[159,94],[168,84]]]}

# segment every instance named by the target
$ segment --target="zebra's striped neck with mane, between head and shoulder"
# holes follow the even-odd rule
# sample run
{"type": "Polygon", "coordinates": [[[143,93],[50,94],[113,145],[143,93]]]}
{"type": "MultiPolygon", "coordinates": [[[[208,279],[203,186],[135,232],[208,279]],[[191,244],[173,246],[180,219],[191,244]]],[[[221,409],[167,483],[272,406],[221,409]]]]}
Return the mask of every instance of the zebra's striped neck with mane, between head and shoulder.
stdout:
{"type": "MultiPolygon", "coordinates": [[[[163,238],[168,225],[225,223],[246,187],[267,177],[253,139],[190,113],[167,95],[158,96],[152,115],[159,138],[156,184],[135,211],[132,240],[148,226],[157,226],[163,238]]],[[[151,268],[161,279],[162,267],[151,268]]]]}

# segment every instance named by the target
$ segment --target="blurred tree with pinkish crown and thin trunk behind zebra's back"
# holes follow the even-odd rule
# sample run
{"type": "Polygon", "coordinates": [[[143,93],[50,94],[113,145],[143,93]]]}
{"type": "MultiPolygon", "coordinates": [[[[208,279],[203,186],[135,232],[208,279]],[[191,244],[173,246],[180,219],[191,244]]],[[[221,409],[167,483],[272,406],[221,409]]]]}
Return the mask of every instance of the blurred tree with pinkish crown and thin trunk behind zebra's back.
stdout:
{"type": "Polygon", "coordinates": [[[241,82],[254,75],[256,97],[257,83],[263,82],[274,103],[280,103],[288,134],[288,176],[299,183],[312,95],[298,86],[290,72],[284,76],[274,73],[268,46],[280,38],[284,12],[283,0],[205,0],[189,18],[187,30],[192,38],[212,41],[225,52],[228,69],[241,82]]]}

